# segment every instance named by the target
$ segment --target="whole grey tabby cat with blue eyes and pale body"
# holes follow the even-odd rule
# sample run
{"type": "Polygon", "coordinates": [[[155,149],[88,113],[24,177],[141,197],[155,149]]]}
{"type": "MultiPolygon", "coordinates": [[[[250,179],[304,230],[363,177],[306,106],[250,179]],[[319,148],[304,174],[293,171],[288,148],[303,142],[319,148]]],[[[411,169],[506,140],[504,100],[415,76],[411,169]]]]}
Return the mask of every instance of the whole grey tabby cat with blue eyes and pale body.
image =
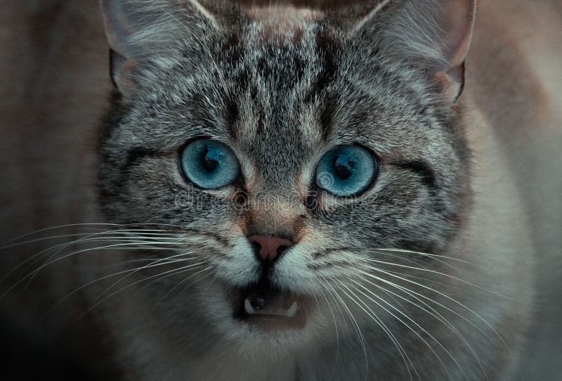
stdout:
{"type": "Polygon", "coordinates": [[[490,58],[499,7],[100,6],[112,225],[47,264],[94,251],[55,302],[84,295],[123,378],[521,377],[540,252],[506,130],[559,100],[490,58]]]}

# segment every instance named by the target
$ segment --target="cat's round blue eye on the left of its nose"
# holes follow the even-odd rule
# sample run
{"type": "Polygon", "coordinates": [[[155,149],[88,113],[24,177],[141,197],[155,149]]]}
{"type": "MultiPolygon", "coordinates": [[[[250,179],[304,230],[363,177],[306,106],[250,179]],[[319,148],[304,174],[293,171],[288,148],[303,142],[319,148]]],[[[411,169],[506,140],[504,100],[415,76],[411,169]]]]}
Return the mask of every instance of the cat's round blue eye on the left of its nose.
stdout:
{"type": "Polygon", "coordinates": [[[181,153],[183,174],[204,189],[227,186],[240,176],[240,163],[226,144],[210,139],[192,141],[181,153]]]}

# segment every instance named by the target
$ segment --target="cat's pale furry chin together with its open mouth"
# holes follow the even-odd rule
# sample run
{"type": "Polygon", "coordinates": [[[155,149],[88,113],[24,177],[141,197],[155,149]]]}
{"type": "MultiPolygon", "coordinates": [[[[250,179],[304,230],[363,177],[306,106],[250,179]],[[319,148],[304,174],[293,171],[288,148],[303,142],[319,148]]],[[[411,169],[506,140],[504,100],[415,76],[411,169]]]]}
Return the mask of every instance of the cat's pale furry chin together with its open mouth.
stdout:
{"type": "Polygon", "coordinates": [[[202,298],[212,301],[204,308],[209,323],[240,351],[304,349],[334,330],[318,297],[266,279],[242,287],[215,279],[204,288],[202,298]]]}

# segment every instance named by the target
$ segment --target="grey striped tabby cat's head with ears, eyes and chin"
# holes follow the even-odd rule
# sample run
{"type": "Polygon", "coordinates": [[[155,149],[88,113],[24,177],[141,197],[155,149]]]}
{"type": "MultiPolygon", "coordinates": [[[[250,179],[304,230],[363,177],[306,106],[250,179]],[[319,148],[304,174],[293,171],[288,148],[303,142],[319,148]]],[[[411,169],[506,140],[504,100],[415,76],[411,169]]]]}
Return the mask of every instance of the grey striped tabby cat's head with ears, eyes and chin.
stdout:
{"type": "Polygon", "coordinates": [[[387,4],[341,25],[159,3],[104,2],[119,92],[99,179],[111,222],[166,226],[169,257],[191,260],[139,272],[156,277],[144,292],[166,324],[240,342],[321,337],[342,299],[361,308],[353,295],[384,275],[374,267],[445,250],[469,195],[451,107],[464,34],[421,57],[420,28],[446,39],[415,22],[398,39],[387,4]]]}

